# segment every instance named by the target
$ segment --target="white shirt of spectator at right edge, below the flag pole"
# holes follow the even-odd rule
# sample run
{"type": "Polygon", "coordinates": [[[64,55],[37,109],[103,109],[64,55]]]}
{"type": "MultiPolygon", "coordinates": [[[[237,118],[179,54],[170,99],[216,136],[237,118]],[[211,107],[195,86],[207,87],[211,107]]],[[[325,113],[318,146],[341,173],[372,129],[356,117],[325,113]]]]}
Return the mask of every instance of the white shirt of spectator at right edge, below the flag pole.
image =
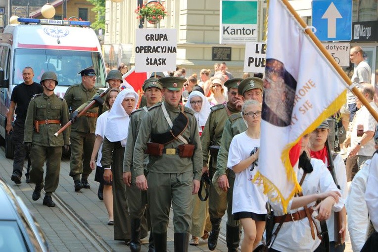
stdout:
{"type": "MultiPolygon", "coordinates": [[[[374,101],[370,102],[370,105],[373,107],[374,110],[378,112],[378,107],[374,103],[374,101]]],[[[373,131],[376,132],[376,119],[374,119],[373,115],[369,112],[366,106],[361,107],[358,111],[356,111],[356,116],[353,119],[353,126],[352,126],[352,133],[350,135],[351,146],[354,147],[357,143],[361,142],[362,137],[357,137],[357,125],[364,125],[364,132],[366,131],[373,131]]],[[[361,146],[360,151],[357,152],[357,155],[361,156],[372,156],[373,153],[376,151],[374,147],[374,139],[371,138],[368,143],[361,146]]]]}

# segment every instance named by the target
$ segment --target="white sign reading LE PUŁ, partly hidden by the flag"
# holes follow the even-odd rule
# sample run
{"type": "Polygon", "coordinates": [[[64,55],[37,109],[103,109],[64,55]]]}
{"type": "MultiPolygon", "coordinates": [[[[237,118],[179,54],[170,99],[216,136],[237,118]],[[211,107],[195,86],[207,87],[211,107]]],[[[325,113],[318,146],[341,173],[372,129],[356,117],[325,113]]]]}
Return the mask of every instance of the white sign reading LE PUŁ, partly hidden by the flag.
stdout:
{"type": "Polygon", "coordinates": [[[244,72],[265,72],[266,44],[263,42],[245,43],[244,72]]]}

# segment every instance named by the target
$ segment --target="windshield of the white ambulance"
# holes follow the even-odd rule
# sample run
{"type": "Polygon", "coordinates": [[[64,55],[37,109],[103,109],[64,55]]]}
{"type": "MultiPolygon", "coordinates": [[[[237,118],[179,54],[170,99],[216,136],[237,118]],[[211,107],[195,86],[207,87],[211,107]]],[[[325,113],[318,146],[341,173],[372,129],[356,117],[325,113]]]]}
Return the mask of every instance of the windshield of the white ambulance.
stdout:
{"type": "Polygon", "coordinates": [[[40,82],[46,71],[56,73],[59,86],[70,86],[81,82],[81,70],[94,66],[97,74],[96,87],[105,87],[105,72],[101,56],[93,51],[16,49],[14,54],[13,84],[23,82],[22,69],[30,66],[34,70],[34,81],[40,82]]]}

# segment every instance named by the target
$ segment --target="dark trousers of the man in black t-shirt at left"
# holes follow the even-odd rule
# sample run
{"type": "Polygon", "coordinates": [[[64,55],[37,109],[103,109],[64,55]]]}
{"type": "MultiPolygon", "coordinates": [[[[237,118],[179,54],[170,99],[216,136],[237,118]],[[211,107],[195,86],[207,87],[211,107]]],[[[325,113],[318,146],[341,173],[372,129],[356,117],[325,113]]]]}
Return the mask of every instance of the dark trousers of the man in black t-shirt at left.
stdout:
{"type": "Polygon", "coordinates": [[[25,121],[16,120],[14,122],[12,141],[14,145],[13,155],[13,173],[17,172],[22,176],[22,170],[24,169],[24,161],[27,155],[24,146],[24,124],[25,121]]]}

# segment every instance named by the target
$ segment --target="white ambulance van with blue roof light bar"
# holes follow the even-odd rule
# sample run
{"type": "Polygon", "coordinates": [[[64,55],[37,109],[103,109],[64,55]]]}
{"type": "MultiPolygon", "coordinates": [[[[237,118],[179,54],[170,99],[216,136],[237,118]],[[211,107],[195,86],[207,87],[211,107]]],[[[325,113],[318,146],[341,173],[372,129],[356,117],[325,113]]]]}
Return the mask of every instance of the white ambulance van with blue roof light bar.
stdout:
{"type": "MultiPolygon", "coordinates": [[[[5,27],[0,37],[0,140],[5,155],[13,157],[11,135],[6,134],[6,113],[13,88],[22,83],[22,69],[34,70],[34,81],[53,71],[59,85],[55,93],[63,97],[70,85],[81,82],[82,69],[94,66],[96,86],[106,88],[101,48],[90,22],[19,18],[20,24],[5,27]]],[[[12,122],[14,121],[13,118],[12,122]]]]}

